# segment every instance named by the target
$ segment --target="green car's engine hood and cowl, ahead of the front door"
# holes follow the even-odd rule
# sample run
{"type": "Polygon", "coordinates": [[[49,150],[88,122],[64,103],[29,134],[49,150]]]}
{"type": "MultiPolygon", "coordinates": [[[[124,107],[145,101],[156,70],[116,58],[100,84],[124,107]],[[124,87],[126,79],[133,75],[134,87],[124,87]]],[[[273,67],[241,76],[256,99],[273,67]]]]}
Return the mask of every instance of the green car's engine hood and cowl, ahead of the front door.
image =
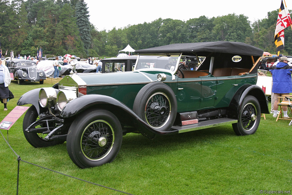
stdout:
{"type": "MultiPolygon", "coordinates": [[[[166,74],[164,81],[175,95],[177,90],[177,78],[172,80],[168,72],[143,71],[143,72],[122,72],[80,75],[80,78],[87,83],[87,94],[100,94],[113,97],[129,108],[133,109],[134,100],[142,87],[156,81],[159,73],[166,74]]],[[[158,82],[158,81],[156,81],[158,82]]]]}

